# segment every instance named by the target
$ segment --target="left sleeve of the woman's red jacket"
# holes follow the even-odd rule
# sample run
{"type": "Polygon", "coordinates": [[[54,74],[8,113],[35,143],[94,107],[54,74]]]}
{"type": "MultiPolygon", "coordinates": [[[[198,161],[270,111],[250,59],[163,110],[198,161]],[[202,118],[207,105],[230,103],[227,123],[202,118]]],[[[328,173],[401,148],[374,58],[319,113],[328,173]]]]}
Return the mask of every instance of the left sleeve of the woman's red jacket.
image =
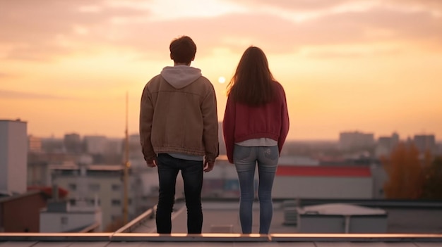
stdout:
{"type": "Polygon", "coordinates": [[[227,159],[233,164],[234,126],[235,126],[235,103],[231,97],[227,97],[224,119],[222,120],[222,133],[226,146],[227,159]]]}

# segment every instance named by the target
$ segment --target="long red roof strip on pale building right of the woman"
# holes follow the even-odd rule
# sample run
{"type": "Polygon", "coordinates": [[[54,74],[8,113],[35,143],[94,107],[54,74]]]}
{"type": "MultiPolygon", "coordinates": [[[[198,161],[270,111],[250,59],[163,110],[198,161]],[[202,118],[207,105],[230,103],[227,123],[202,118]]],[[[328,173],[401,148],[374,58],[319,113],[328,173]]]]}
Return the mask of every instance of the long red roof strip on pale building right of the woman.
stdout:
{"type": "Polygon", "coordinates": [[[299,177],[371,177],[371,171],[370,167],[359,166],[280,165],[277,167],[276,175],[299,177]]]}

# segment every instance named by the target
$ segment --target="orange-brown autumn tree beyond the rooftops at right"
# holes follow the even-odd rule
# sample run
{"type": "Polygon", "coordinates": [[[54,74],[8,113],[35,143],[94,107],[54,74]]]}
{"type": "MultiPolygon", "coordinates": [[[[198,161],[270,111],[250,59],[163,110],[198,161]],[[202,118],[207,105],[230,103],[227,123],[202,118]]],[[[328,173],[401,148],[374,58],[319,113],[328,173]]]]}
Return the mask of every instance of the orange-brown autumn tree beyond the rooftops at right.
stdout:
{"type": "Polygon", "coordinates": [[[381,158],[381,162],[388,174],[383,188],[386,198],[421,198],[425,175],[416,146],[400,142],[388,158],[381,158]]]}

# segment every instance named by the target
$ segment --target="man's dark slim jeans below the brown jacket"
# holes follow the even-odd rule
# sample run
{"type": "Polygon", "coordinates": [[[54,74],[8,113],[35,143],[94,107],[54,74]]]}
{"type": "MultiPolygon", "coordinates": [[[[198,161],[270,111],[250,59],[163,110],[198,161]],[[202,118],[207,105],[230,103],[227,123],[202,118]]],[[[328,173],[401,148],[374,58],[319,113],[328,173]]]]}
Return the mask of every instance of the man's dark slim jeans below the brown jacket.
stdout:
{"type": "Polygon", "coordinates": [[[181,170],[184,181],[184,196],[187,207],[187,232],[201,234],[203,209],[201,208],[201,188],[203,186],[203,161],[181,160],[166,153],[157,157],[160,196],[157,205],[157,232],[172,232],[171,214],[175,201],[175,184],[181,170]]]}

